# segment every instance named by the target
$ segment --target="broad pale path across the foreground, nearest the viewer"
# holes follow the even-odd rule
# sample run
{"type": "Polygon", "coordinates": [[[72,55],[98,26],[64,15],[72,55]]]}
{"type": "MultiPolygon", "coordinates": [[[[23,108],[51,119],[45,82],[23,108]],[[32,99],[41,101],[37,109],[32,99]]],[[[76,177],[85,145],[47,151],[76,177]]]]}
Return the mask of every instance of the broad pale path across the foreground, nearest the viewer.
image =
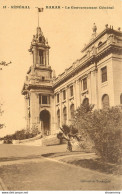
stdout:
{"type": "Polygon", "coordinates": [[[2,178],[9,190],[120,189],[120,180],[117,177],[76,167],[51,158],[40,158],[25,163],[20,161],[16,165],[3,167],[2,178]],[[6,172],[7,176],[5,176],[6,172]]]}

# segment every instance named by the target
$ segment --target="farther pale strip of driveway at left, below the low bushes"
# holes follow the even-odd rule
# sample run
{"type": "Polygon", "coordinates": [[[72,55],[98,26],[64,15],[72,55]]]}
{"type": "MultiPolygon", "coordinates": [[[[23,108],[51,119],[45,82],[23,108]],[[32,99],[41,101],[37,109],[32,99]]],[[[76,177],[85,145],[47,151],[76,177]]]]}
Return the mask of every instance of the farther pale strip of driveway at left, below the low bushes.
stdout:
{"type": "Polygon", "coordinates": [[[22,159],[29,156],[40,156],[46,153],[60,153],[66,151],[66,144],[55,146],[28,146],[28,145],[0,145],[0,160],[22,159]]]}

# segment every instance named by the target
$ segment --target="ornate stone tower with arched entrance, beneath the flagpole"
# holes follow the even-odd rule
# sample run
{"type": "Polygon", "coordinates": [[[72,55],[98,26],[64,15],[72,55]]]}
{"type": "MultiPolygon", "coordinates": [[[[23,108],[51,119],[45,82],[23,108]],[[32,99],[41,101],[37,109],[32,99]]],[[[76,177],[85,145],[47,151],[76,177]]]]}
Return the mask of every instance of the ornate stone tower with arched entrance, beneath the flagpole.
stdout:
{"type": "Polygon", "coordinates": [[[33,65],[27,72],[22,94],[25,95],[27,128],[31,130],[36,127],[42,135],[50,135],[54,123],[49,49],[41,28],[37,27],[29,49],[33,56],[33,65]]]}

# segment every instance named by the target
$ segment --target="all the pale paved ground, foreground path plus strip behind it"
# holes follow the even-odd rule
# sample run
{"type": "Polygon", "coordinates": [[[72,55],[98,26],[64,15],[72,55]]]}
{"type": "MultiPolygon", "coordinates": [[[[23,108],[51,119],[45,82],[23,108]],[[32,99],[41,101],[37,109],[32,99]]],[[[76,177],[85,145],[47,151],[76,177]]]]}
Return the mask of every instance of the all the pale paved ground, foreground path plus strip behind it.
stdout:
{"type": "MultiPolygon", "coordinates": [[[[0,176],[8,190],[120,190],[120,177],[107,175],[60,161],[62,156],[44,158],[43,153],[61,152],[63,147],[38,148],[6,146],[2,153],[0,176]],[[24,148],[24,149],[22,149],[24,148]],[[40,151],[41,150],[41,151],[40,151]],[[20,153],[18,153],[20,151],[20,153]],[[7,159],[5,161],[4,159],[7,159]],[[14,160],[13,160],[14,159],[14,160]]],[[[75,154],[72,153],[72,157],[75,154]]],[[[68,156],[63,156],[68,157],[68,156]]],[[[76,157],[76,155],[75,155],[76,157]]],[[[79,154],[77,157],[93,157],[79,154]]],[[[2,182],[2,183],[3,183],[2,182]]],[[[6,190],[4,184],[2,190],[6,190]]]]}

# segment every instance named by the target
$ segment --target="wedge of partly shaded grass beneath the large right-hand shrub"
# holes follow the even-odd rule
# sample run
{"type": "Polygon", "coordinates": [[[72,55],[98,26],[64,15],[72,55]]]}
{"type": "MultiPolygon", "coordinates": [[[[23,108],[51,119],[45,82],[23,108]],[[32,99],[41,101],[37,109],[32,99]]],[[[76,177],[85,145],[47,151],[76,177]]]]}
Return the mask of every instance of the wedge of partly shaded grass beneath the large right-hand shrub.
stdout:
{"type": "Polygon", "coordinates": [[[69,163],[69,164],[73,164],[73,165],[80,166],[83,168],[88,168],[88,169],[95,170],[98,172],[103,172],[106,174],[122,175],[122,165],[106,163],[101,158],[99,158],[97,155],[95,156],[94,154],[92,155],[91,153],[89,153],[89,156],[91,155],[91,158],[85,158],[84,154],[85,153],[83,152],[62,152],[62,153],[43,154],[42,156],[48,157],[48,158],[57,158],[57,157],[59,158],[60,157],[61,161],[69,163]],[[79,154],[81,155],[81,158],[79,154]],[[82,154],[84,158],[82,157],[82,154]]]}

